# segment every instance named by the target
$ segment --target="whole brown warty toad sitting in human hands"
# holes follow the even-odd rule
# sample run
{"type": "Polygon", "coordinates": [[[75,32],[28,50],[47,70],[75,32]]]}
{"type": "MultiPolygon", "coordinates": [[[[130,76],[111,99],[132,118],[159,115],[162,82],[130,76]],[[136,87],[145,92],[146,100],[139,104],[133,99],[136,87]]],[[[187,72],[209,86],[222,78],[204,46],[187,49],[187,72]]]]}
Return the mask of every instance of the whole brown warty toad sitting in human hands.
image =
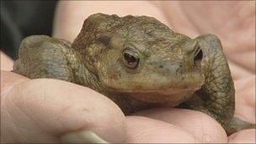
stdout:
{"type": "Polygon", "coordinates": [[[221,41],[215,35],[191,39],[147,16],[93,14],[72,44],[29,36],[13,71],[92,88],[125,115],[179,106],[211,115],[228,134],[255,126],[233,118],[235,90],[221,41]]]}

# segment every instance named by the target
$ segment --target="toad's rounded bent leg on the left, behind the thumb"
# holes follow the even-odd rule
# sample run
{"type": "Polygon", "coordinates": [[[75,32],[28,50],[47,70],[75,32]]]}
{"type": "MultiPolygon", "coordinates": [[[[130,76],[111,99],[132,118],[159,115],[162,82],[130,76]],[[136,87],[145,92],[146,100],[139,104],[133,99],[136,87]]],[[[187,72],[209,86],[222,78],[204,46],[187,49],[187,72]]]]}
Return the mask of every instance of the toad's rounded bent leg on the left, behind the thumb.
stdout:
{"type": "Polygon", "coordinates": [[[82,85],[84,70],[82,59],[69,42],[47,35],[22,40],[19,59],[13,66],[13,72],[29,78],[56,78],[82,85]]]}

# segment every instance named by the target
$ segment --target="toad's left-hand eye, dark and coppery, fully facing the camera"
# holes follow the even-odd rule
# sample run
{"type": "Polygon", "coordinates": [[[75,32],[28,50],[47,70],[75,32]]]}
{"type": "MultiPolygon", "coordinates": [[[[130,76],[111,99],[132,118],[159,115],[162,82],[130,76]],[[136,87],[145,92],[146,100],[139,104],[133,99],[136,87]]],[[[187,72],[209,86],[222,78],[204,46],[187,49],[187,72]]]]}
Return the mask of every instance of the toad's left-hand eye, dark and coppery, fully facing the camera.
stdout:
{"type": "Polygon", "coordinates": [[[139,61],[140,59],[135,52],[128,49],[123,51],[123,63],[125,67],[135,69],[136,67],[138,67],[139,61]]]}

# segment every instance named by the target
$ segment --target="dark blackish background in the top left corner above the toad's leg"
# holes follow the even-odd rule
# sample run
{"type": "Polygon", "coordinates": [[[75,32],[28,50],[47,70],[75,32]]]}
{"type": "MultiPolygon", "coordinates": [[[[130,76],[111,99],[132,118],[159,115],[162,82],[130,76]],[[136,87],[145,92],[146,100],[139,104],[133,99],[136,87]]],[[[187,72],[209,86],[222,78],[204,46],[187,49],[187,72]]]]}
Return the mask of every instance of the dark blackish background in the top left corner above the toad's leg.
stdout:
{"type": "Polygon", "coordinates": [[[57,0],[1,0],[1,50],[13,60],[28,35],[51,35],[57,0]]]}

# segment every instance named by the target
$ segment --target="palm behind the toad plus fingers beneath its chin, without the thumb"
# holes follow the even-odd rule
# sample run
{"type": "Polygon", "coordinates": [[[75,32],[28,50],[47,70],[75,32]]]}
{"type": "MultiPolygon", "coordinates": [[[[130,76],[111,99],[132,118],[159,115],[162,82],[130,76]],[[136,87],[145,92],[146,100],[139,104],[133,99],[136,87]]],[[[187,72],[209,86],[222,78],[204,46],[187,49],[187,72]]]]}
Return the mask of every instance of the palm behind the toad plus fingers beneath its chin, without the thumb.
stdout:
{"type": "MultiPolygon", "coordinates": [[[[253,2],[65,1],[59,3],[56,12],[54,34],[72,41],[88,15],[116,13],[150,15],[191,37],[205,33],[218,35],[235,79],[236,115],[255,123],[254,9],[253,2]]],[[[238,131],[227,138],[215,120],[192,110],[149,109],[136,115],[144,117],[127,117],[128,142],[255,142],[255,130],[238,131]]]]}

